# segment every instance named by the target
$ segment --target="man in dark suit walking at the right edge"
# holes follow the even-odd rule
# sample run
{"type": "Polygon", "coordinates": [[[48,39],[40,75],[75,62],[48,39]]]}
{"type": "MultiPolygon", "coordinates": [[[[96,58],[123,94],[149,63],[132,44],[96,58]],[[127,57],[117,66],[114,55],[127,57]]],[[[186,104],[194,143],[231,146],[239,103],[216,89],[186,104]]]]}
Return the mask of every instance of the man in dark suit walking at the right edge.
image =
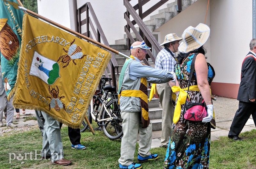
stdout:
{"type": "Polygon", "coordinates": [[[241,82],[238,90],[238,109],[230,126],[228,137],[243,141],[238,135],[252,115],[256,126],[256,39],[250,42],[250,52],[244,58],[241,70],[241,82]]]}

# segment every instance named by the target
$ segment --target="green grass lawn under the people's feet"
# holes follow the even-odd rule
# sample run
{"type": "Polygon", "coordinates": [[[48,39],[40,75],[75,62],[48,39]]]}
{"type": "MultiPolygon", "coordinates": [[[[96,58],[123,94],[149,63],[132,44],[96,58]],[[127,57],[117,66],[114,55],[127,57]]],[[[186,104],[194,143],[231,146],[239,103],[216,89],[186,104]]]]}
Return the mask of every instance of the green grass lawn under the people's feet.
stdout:
{"type": "MultiPolygon", "coordinates": [[[[244,141],[234,142],[228,137],[221,137],[211,142],[210,168],[244,169],[256,168],[256,130],[240,135],[244,141]]],[[[37,127],[25,132],[6,132],[0,137],[0,168],[86,168],[86,169],[116,169],[119,168],[121,140],[109,140],[103,131],[95,131],[95,136],[89,130],[81,133],[81,143],[86,150],[71,149],[68,138],[68,128],[61,128],[64,158],[71,160],[72,165],[51,165],[50,159],[41,160],[42,136],[37,127]],[[37,155],[35,155],[37,154],[37,155]]],[[[137,149],[134,162],[137,160],[137,149]]],[[[166,149],[153,148],[151,153],[159,154],[154,162],[143,163],[143,169],[163,168],[166,149]]]]}

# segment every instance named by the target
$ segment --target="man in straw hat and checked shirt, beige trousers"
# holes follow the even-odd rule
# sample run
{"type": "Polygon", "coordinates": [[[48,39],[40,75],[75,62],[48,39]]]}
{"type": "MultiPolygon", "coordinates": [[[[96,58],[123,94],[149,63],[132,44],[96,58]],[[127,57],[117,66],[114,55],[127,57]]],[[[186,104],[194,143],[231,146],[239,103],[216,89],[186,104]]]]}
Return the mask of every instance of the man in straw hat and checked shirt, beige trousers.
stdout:
{"type": "MultiPolygon", "coordinates": [[[[156,69],[162,69],[169,72],[174,72],[176,56],[180,40],[175,33],[170,33],[165,36],[164,42],[160,46],[164,48],[156,56],[156,69]]],[[[175,86],[174,82],[169,82],[171,87],[175,86]]],[[[156,90],[159,97],[163,112],[162,112],[162,135],[160,147],[166,148],[169,143],[171,129],[172,129],[172,118],[174,113],[174,107],[172,106],[172,90],[168,82],[163,84],[157,84],[156,90]]]]}

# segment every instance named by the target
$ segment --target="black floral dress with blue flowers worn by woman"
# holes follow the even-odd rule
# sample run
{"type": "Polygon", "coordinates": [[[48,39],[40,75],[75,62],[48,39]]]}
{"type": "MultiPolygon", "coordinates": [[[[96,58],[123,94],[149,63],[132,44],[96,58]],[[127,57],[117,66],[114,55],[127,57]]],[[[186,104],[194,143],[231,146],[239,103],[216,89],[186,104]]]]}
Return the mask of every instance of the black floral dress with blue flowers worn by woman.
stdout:
{"type": "MultiPolygon", "coordinates": [[[[176,64],[176,78],[180,88],[187,88],[190,66],[194,54],[190,55],[182,66],[176,64]]],[[[212,82],[215,73],[208,65],[208,82],[212,82]]],[[[190,86],[197,85],[196,72],[193,71],[190,86]]],[[[188,91],[190,102],[202,102],[198,91],[188,91]]],[[[177,95],[178,99],[179,94],[177,95]]],[[[183,112],[184,105],[181,105],[183,112]]],[[[211,144],[211,125],[203,122],[190,122],[180,113],[180,120],[172,126],[171,137],[164,160],[164,169],[201,169],[209,168],[211,144]]]]}

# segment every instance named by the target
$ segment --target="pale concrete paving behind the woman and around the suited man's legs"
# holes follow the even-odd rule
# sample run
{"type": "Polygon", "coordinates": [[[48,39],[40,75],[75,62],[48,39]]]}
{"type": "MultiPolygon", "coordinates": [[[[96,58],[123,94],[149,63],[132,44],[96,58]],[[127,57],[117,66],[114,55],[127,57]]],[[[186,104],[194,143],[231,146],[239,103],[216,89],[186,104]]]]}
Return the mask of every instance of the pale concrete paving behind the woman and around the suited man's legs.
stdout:
{"type": "MultiPolygon", "coordinates": [[[[232,120],[238,109],[238,100],[226,98],[226,97],[216,97],[217,100],[213,101],[213,109],[215,112],[216,129],[211,131],[211,140],[217,140],[221,136],[228,136],[229,128],[232,120]]],[[[251,131],[256,129],[252,116],[249,118],[244,126],[242,132],[251,131]]],[[[159,147],[161,145],[161,138],[152,139],[151,148],[159,147]]]]}

